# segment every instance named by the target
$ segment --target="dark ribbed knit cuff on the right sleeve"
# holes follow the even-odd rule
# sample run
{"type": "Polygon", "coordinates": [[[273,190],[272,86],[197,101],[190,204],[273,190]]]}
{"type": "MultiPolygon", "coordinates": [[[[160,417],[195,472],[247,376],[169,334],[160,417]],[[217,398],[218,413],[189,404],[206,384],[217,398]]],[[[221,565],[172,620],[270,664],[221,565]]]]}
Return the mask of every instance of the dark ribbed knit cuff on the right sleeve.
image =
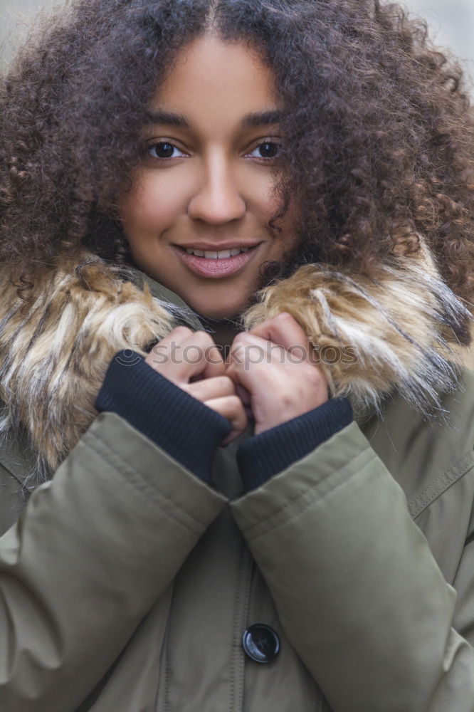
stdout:
{"type": "Polygon", "coordinates": [[[246,491],[253,490],[302,459],[352,422],[347,398],[334,398],[297,418],[248,438],[237,449],[246,491]]]}

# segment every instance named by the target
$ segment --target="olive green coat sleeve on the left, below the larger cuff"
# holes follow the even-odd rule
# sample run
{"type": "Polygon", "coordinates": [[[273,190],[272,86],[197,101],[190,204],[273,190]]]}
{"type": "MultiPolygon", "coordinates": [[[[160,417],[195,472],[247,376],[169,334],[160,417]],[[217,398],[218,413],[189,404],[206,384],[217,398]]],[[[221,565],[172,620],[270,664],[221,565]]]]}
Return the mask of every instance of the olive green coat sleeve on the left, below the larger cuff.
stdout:
{"type": "Polygon", "coordinates": [[[0,539],[0,709],[69,712],[226,503],[116,414],[0,539]]]}

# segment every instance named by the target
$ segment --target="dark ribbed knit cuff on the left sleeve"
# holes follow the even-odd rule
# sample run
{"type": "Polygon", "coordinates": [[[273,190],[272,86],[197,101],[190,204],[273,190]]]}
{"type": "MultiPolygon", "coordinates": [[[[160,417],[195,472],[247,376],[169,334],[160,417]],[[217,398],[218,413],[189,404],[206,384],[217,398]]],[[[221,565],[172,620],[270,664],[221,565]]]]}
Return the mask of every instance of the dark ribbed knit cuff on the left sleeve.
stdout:
{"type": "Polygon", "coordinates": [[[130,349],[112,358],[95,408],[120,415],[207,483],[216,448],[232,429],[130,349]]]}

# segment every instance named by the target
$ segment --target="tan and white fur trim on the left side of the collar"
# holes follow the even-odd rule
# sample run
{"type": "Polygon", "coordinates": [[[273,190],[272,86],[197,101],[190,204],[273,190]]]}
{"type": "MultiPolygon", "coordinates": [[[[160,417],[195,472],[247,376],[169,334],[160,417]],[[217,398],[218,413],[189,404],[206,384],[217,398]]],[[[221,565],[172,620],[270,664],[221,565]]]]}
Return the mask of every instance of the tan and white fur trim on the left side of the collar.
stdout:
{"type": "Polygon", "coordinates": [[[24,429],[31,445],[23,488],[51,478],[88,429],[113,355],[126,348],[144,355],[186,318],[124,275],[130,281],[88,255],[33,286],[26,303],[9,281],[0,284],[0,434],[24,429]]]}

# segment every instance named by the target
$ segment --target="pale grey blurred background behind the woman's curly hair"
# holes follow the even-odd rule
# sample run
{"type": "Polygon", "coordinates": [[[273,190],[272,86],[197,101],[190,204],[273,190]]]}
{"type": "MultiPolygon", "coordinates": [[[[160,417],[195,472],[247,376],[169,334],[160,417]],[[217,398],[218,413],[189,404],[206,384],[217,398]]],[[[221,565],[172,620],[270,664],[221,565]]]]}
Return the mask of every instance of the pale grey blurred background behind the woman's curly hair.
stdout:
{"type": "MultiPolygon", "coordinates": [[[[64,2],[0,0],[0,66],[8,62],[28,23],[34,23],[38,9],[64,2]]],[[[405,0],[404,4],[428,21],[436,43],[451,48],[474,76],[474,0],[405,0]]]]}

